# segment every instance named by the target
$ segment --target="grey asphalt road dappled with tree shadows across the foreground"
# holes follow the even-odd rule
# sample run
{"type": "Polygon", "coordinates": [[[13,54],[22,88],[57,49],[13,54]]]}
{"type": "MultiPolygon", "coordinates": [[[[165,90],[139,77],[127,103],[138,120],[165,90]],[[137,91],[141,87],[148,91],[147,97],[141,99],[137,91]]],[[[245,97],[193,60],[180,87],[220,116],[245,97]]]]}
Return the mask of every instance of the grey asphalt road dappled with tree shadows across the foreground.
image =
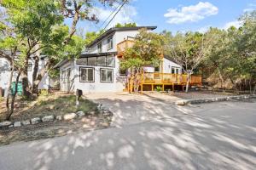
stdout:
{"type": "Polygon", "coordinates": [[[256,168],[255,102],[176,109],[147,122],[0,146],[0,169],[256,168]]]}

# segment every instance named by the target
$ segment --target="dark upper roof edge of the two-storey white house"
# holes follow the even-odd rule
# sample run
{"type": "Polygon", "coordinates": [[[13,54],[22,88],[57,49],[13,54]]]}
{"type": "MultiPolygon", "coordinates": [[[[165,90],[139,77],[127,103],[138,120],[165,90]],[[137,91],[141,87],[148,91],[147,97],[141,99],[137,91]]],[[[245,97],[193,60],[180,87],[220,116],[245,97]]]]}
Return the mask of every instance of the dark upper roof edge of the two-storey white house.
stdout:
{"type": "Polygon", "coordinates": [[[146,28],[147,30],[154,30],[157,28],[157,26],[135,26],[135,27],[113,27],[108,29],[108,31],[105,31],[101,36],[97,37],[93,42],[90,42],[86,47],[90,48],[96,42],[100,42],[104,37],[108,37],[110,34],[113,34],[115,31],[135,31],[135,30],[140,30],[146,28]]]}

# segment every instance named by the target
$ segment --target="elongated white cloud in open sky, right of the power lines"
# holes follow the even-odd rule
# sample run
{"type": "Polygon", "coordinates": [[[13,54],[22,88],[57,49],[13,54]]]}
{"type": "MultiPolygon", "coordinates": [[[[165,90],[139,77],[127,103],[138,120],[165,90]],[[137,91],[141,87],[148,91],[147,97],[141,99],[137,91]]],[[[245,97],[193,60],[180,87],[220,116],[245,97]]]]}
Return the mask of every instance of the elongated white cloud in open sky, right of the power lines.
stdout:
{"type": "Polygon", "coordinates": [[[169,8],[164,16],[168,19],[166,22],[170,24],[181,24],[184,22],[195,22],[203,20],[205,17],[218,14],[218,8],[212,3],[197,3],[182,8],[169,8]]]}

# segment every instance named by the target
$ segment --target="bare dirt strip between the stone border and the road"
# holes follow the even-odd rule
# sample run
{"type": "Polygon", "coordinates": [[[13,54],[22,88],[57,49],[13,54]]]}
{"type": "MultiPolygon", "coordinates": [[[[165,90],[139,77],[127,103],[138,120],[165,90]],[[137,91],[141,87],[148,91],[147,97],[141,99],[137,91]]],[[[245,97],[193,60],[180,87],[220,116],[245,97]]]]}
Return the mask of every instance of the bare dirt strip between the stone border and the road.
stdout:
{"type": "Polygon", "coordinates": [[[107,128],[110,126],[111,119],[112,115],[103,116],[100,114],[97,116],[84,116],[73,121],[43,122],[24,127],[0,128],[0,145],[17,141],[54,138],[69,133],[107,128]]]}

